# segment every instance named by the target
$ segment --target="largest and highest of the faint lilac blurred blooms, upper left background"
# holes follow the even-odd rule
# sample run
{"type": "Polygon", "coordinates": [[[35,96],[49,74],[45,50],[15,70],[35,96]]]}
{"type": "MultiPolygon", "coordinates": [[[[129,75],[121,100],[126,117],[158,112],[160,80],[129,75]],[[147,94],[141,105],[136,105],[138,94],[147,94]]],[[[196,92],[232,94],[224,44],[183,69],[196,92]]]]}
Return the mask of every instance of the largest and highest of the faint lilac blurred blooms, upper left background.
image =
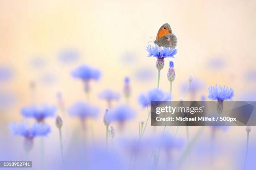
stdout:
{"type": "Polygon", "coordinates": [[[79,60],[80,54],[77,50],[63,50],[59,53],[58,59],[64,64],[74,63],[79,60]]]}

